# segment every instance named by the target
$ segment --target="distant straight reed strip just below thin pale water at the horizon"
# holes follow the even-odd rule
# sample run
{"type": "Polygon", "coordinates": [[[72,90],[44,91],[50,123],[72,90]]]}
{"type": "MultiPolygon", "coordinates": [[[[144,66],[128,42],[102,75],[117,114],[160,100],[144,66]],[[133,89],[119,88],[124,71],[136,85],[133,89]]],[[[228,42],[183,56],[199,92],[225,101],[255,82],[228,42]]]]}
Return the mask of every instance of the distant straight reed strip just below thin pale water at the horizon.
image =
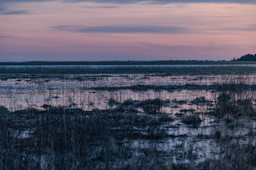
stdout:
{"type": "Polygon", "coordinates": [[[0,65],[0,74],[256,74],[256,64],[0,65]]]}

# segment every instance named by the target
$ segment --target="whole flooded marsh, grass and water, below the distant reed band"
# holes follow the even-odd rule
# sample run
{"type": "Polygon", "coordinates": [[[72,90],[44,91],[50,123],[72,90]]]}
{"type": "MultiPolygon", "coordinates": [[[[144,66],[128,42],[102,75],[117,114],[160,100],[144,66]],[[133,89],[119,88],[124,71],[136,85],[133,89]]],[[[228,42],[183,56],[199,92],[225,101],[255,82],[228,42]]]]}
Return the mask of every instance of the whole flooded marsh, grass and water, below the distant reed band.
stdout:
{"type": "Polygon", "coordinates": [[[256,169],[255,91],[256,74],[0,74],[1,167],[256,169]]]}

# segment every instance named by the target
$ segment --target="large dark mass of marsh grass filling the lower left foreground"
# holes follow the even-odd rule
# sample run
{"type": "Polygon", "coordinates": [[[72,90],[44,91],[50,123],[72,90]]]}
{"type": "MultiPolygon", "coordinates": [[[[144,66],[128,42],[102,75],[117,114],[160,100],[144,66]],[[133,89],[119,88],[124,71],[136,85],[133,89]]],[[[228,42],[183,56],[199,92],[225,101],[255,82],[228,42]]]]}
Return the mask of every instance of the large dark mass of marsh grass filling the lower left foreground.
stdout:
{"type": "Polygon", "coordinates": [[[169,137],[163,126],[173,121],[168,114],[138,114],[132,108],[164,103],[159,99],[128,100],[102,111],[45,105],[44,111],[9,112],[0,106],[1,165],[5,169],[106,169],[110,164],[109,169],[139,169],[142,165],[164,169],[164,164],[150,162],[161,154],[158,149],[137,151],[138,157],[127,145],[133,140],[169,137]],[[124,164],[117,164],[118,160],[124,164]]]}

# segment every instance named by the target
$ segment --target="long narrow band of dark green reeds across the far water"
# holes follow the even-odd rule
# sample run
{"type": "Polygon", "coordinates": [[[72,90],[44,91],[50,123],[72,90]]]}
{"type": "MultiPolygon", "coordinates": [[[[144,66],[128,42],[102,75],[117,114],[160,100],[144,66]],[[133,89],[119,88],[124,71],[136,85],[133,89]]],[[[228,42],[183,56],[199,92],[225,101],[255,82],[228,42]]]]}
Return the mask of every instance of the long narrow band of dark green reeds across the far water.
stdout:
{"type": "MultiPolygon", "coordinates": [[[[193,62],[188,61],[192,64],[193,62]]],[[[229,62],[231,63],[231,62],[229,62]]],[[[238,64],[239,62],[233,62],[238,64]]],[[[242,64],[252,64],[251,62],[241,62],[242,64]]],[[[1,64],[1,63],[0,63],[1,64]]],[[[15,64],[13,64],[15,65],[15,64]]],[[[255,67],[247,66],[211,66],[211,67],[142,67],[139,64],[126,67],[0,67],[1,74],[166,74],[166,75],[207,75],[207,74],[253,74],[255,67]],[[235,70],[235,71],[234,71],[235,70]]],[[[35,64],[36,65],[36,64],[35,64]]]]}

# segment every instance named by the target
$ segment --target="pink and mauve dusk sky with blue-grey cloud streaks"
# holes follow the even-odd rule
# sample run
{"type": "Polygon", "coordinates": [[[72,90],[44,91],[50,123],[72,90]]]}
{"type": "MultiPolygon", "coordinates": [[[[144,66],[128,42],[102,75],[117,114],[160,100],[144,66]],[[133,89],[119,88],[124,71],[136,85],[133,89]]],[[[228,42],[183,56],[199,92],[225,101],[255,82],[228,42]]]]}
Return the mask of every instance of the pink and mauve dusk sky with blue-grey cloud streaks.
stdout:
{"type": "Polygon", "coordinates": [[[0,62],[232,60],[255,0],[0,0],[0,62]]]}

